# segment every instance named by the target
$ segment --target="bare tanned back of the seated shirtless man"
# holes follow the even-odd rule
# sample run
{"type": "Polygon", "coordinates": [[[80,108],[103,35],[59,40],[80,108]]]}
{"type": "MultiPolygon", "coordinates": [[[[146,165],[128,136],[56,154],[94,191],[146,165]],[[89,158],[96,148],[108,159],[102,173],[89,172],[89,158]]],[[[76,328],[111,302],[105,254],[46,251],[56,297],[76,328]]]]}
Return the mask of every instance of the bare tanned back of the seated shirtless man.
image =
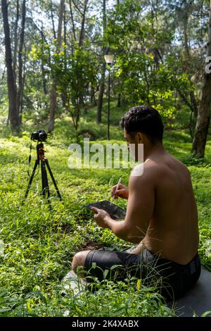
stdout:
{"type": "Polygon", "coordinates": [[[146,168],[155,187],[155,206],[146,236],[133,253],[146,247],[185,265],[198,251],[198,213],[188,169],[165,150],[148,156],[143,176],[146,168]]]}

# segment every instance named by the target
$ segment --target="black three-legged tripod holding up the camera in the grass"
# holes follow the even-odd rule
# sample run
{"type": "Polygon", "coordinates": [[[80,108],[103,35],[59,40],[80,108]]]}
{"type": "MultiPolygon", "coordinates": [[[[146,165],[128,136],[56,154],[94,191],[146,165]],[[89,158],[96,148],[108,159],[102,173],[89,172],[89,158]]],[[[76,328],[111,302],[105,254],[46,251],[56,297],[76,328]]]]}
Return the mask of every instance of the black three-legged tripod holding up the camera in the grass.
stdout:
{"type": "Polygon", "coordinates": [[[50,197],[49,182],[48,182],[48,177],[47,177],[47,172],[46,172],[46,165],[47,165],[47,168],[48,168],[49,173],[51,175],[51,180],[54,184],[54,187],[56,189],[58,197],[59,197],[60,201],[62,201],[62,197],[60,196],[60,192],[58,191],[58,186],[56,185],[56,181],[53,177],[53,173],[51,171],[49,161],[47,160],[47,158],[44,155],[44,144],[42,144],[42,143],[37,144],[37,160],[35,161],[34,169],[32,171],[32,175],[30,177],[30,182],[29,182],[29,184],[27,186],[27,190],[25,192],[25,199],[27,199],[28,193],[30,191],[30,187],[32,185],[32,180],[34,178],[34,174],[35,174],[35,171],[37,169],[37,165],[39,165],[39,163],[41,163],[42,195],[44,196],[44,198],[46,198],[46,196],[47,196],[48,202],[50,204],[50,201],[49,201],[49,197],[50,197]]]}

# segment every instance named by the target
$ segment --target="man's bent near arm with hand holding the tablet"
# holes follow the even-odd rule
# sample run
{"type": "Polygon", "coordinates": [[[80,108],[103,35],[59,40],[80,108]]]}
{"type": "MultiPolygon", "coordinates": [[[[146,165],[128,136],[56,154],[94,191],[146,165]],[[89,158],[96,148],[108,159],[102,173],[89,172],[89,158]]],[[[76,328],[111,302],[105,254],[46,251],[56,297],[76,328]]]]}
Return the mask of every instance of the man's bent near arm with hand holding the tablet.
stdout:
{"type": "MultiPolygon", "coordinates": [[[[139,165],[138,165],[139,166],[139,165]]],[[[108,227],[127,242],[139,243],[145,237],[153,216],[155,187],[151,167],[145,166],[143,175],[129,178],[129,199],[125,220],[113,220],[108,213],[97,209],[94,218],[101,227],[108,227]]]]}

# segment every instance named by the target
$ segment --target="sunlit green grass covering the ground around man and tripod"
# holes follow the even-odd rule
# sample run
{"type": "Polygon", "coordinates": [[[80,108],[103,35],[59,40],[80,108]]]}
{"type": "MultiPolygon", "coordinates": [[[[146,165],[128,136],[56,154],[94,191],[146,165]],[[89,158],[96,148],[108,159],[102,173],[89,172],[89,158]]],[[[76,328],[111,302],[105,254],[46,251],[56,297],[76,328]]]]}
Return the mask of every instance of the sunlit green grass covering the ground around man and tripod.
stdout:
{"type": "MultiPolygon", "coordinates": [[[[123,142],[118,121],[125,108],[111,105],[112,142],[123,142]]],[[[106,109],[106,106],[105,106],[106,109]]],[[[106,144],[106,114],[103,124],[96,125],[96,108],[90,108],[80,121],[80,130],[91,129],[96,139],[106,144]]],[[[44,203],[41,173],[34,177],[30,194],[24,201],[30,133],[38,127],[27,123],[23,137],[11,137],[1,125],[0,139],[0,316],[173,316],[174,311],[163,304],[153,289],[142,286],[110,283],[96,294],[84,292],[63,295],[60,280],[70,270],[72,256],[86,247],[115,247],[125,249],[128,243],[117,239],[109,230],[96,226],[91,213],[84,208],[89,202],[110,199],[110,187],[120,177],[119,170],[68,168],[68,145],[75,141],[70,118],[56,120],[53,135],[45,143],[53,175],[64,204],[56,196],[50,182],[52,211],[44,203]],[[27,133],[28,132],[28,133],[27,133]],[[24,204],[23,204],[24,203],[24,204]],[[2,249],[1,249],[2,252],[2,249]]],[[[43,127],[46,129],[46,126],[43,127]]],[[[211,270],[211,142],[207,142],[205,160],[190,157],[191,139],[183,127],[165,132],[165,147],[188,165],[198,204],[200,225],[200,257],[204,268],[211,270]]],[[[34,142],[32,163],[35,161],[34,142]]],[[[122,170],[127,184],[129,170],[122,170]]],[[[125,208],[124,201],[117,201],[125,208]]]]}

